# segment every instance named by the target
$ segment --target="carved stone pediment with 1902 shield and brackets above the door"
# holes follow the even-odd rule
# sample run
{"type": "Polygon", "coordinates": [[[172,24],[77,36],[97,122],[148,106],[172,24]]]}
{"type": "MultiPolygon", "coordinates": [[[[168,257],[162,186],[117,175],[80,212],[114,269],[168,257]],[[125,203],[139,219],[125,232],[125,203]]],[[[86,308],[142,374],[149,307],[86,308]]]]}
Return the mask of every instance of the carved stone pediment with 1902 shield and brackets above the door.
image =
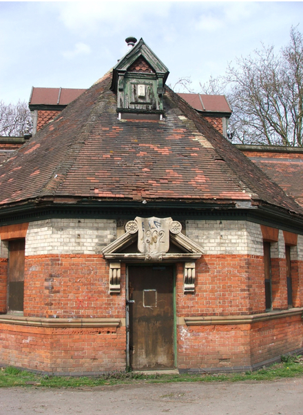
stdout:
{"type": "Polygon", "coordinates": [[[120,293],[121,262],[184,262],[184,290],[194,292],[195,261],[203,250],[182,234],[182,225],[171,218],[136,217],[125,225],[125,234],[107,245],[109,292],[120,293]]]}

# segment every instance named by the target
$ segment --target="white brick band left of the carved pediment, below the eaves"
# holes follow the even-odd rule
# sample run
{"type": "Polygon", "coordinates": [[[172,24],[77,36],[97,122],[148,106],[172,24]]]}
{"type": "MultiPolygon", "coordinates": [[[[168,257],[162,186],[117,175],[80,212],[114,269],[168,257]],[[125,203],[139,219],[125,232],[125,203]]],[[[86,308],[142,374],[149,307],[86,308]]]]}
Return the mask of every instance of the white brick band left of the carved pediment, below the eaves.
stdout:
{"type": "Polygon", "coordinates": [[[113,219],[47,219],[28,226],[25,255],[101,254],[114,239],[113,219]]]}

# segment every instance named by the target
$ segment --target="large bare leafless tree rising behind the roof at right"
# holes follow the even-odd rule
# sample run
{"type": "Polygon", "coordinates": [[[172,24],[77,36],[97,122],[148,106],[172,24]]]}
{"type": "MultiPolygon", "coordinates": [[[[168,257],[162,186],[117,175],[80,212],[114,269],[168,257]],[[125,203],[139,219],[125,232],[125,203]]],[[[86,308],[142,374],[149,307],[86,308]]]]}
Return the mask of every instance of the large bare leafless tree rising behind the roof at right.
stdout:
{"type": "Polygon", "coordinates": [[[297,28],[280,52],[262,45],[200,86],[203,93],[227,96],[233,142],[303,146],[303,37],[297,28]]]}

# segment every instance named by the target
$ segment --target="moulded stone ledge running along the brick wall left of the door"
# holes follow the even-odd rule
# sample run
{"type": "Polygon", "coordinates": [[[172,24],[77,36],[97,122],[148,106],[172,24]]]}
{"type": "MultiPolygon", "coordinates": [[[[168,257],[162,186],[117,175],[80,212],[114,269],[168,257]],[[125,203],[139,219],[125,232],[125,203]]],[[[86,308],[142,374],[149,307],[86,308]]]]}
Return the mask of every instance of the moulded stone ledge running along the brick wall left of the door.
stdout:
{"type": "Polygon", "coordinates": [[[118,327],[124,318],[39,318],[2,314],[0,323],[39,327],[118,327]]]}

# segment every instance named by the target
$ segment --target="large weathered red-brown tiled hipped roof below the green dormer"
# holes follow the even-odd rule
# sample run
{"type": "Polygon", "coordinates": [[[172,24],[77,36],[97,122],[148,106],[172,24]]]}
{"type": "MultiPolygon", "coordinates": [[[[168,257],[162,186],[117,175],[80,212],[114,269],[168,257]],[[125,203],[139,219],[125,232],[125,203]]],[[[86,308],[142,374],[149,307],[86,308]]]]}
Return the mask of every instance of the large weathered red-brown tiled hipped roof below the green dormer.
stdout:
{"type": "Polygon", "coordinates": [[[109,72],[0,168],[0,205],[43,197],[252,201],[303,213],[169,88],[163,121],[118,120],[111,83],[109,72]]]}

